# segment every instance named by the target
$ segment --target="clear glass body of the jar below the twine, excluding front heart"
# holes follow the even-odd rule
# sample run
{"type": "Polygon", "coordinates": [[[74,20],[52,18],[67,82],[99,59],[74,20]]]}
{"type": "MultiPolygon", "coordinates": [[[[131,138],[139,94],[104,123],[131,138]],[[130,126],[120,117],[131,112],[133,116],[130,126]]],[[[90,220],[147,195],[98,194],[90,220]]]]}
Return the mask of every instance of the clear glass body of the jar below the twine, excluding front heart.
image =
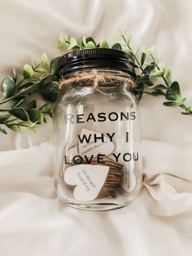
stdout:
{"type": "MultiPolygon", "coordinates": [[[[108,204],[116,205],[115,207],[118,208],[118,205],[121,207],[133,201],[142,186],[137,100],[129,91],[129,84],[121,84],[118,90],[114,90],[114,87],[116,88],[111,86],[110,89],[109,86],[98,86],[95,89],[94,86],[89,85],[70,86],[57,104],[54,119],[55,183],[59,197],[68,204],[108,204]],[[98,137],[94,146],[100,147],[100,151],[95,148],[90,149],[90,143],[82,142],[82,138],[87,139],[89,135],[90,138],[94,138],[95,135],[96,138],[98,137]],[[107,153],[102,151],[102,146],[99,146],[99,135],[101,142],[107,145],[107,149],[105,148],[107,153]],[[83,150],[81,144],[89,151],[83,150]],[[113,149],[111,152],[110,147],[113,149]],[[64,182],[65,171],[71,166],[78,166],[74,162],[74,156],[81,156],[80,161],[82,157],[84,158],[79,164],[81,166],[88,164],[85,157],[88,159],[92,155],[96,158],[98,155],[109,157],[111,159],[109,165],[115,167],[109,168],[103,188],[94,200],[77,200],[74,198],[77,185],[72,186],[64,182]],[[120,169],[118,165],[122,166],[121,170],[118,170],[120,169]]],[[[92,140],[89,142],[93,145],[92,140]]],[[[96,158],[93,158],[94,161],[96,158]]],[[[97,163],[97,166],[100,168],[104,164],[97,163]]]]}

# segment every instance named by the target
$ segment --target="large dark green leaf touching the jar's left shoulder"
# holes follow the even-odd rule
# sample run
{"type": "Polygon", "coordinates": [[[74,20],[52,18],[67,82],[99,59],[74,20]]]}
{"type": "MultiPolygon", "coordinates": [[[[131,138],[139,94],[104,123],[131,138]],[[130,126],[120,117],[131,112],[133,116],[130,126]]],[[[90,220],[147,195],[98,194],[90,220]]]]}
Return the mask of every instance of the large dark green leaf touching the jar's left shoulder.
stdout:
{"type": "Polygon", "coordinates": [[[41,95],[50,100],[51,102],[55,102],[55,100],[59,96],[59,86],[57,82],[49,82],[45,85],[40,86],[41,95]]]}

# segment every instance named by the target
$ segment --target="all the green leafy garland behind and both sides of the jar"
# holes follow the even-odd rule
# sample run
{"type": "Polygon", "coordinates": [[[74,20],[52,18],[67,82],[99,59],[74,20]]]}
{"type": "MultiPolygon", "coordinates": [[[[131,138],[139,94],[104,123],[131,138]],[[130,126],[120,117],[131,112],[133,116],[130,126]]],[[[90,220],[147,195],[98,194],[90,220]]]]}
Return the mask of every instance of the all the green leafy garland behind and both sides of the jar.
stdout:
{"type": "MultiPolygon", "coordinates": [[[[137,86],[133,93],[140,100],[143,94],[158,96],[166,99],[164,106],[180,107],[182,114],[192,115],[190,106],[185,104],[186,99],[181,96],[180,85],[177,81],[172,82],[171,68],[155,60],[154,48],[146,48],[143,51],[133,51],[130,46],[131,37],[126,37],[124,31],[118,33],[120,42],[114,43],[111,48],[119,51],[126,51],[133,56],[137,71],[137,86]]],[[[103,38],[99,43],[94,38],[85,37],[76,40],[71,35],[65,36],[61,33],[58,47],[68,46],[68,51],[75,51],[87,48],[110,48],[109,43],[103,38]]],[[[59,95],[58,88],[58,63],[59,58],[50,61],[48,64],[47,55],[43,53],[39,64],[25,64],[22,70],[22,77],[19,81],[18,74],[13,68],[12,76],[2,80],[0,100],[0,131],[7,134],[6,127],[17,131],[22,127],[28,127],[35,131],[36,125],[46,122],[46,116],[52,116],[52,102],[59,95]],[[30,100],[31,95],[41,95],[45,104],[37,106],[36,99],[30,100]],[[11,102],[8,108],[1,108],[7,102],[11,102]],[[2,113],[2,114],[1,114],[2,113]]],[[[7,105],[7,104],[6,104],[7,105]]]]}

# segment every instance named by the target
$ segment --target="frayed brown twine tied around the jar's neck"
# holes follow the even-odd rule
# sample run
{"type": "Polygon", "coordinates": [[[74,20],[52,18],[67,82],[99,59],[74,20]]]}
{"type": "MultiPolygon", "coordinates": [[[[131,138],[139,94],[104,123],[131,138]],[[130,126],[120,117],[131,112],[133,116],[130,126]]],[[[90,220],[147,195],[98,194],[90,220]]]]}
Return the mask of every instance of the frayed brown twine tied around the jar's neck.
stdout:
{"type": "Polygon", "coordinates": [[[113,75],[112,73],[101,72],[96,69],[92,71],[86,71],[76,75],[75,77],[64,78],[62,77],[59,81],[59,89],[63,88],[63,86],[68,86],[73,82],[79,81],[93,81],[93,87],[98,89],[98,84],[105,83],[113,80],[113,82],[124,82],[129,85],[129,87],[135,87],[136,84],[133,81],[132,77],[123,77],[120,75],[113,75]]]}

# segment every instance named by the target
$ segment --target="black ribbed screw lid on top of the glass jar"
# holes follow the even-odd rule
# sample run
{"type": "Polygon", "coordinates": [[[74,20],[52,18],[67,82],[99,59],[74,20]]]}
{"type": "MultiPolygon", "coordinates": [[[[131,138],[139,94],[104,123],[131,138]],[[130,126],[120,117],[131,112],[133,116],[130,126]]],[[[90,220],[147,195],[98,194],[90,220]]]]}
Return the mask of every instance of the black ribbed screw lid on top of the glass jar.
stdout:
{"type": "Polygon", "coordinates": [[[58,68],[59,77],[90,68],[117,69],[136,77],[133,57],[124,51],[108,48],[68,52],[60,58],[58,68]]]}

